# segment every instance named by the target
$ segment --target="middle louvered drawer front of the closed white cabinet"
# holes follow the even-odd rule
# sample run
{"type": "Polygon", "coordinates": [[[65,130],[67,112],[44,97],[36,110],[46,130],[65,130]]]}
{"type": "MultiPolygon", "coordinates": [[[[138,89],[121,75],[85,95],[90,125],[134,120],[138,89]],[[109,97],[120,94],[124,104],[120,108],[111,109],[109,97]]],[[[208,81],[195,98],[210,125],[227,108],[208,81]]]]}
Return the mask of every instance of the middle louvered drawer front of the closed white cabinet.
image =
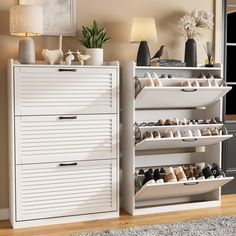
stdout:
{"type": "Polygon", "coordinates": [[[21,116],[16,163],[117,158],[116,115],[21,116]]]}

